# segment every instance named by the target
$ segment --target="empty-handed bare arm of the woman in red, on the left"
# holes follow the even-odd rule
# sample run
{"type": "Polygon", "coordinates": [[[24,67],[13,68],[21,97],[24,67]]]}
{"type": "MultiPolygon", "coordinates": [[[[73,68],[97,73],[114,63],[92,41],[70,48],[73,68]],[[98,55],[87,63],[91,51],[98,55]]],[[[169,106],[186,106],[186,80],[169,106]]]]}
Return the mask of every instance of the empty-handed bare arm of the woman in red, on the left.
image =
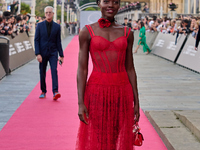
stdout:
{"type": "Polygon", "coordinates": [[[78,105],[79,119],[88,124],[85,120],[84,114],[88,116],[87,108],[84,104],[84,93],[88,75],[88,58],[89,58],[89,44],[90,35],[86,27],[79,33],[79,57],[78,57],[78,70],[77,70],[77,90],[78,90],[78,105]]]}

